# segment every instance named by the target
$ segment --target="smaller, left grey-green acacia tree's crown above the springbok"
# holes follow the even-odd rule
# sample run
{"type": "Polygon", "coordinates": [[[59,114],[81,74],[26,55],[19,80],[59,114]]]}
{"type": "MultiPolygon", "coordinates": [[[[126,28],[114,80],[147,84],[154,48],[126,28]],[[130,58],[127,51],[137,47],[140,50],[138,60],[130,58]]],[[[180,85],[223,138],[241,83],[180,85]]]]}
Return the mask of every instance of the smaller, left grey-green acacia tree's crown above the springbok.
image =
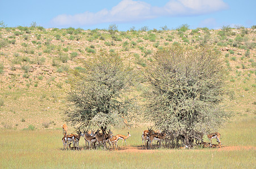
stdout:
{"type": "Polygon", "coordinates": [[[134,102],[125,94],[133,84],[133,70],[117,55],[95,56],[84,68],[74,73],[66,121],[78,128],[127,125],[134,102]]]}

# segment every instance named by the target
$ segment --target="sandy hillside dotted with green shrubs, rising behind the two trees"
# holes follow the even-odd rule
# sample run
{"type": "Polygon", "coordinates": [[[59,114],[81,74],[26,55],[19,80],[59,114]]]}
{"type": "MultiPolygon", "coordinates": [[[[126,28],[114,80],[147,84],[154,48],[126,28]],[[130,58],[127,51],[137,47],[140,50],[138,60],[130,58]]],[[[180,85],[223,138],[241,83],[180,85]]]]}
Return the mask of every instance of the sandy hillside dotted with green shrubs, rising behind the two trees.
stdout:
{"type": "Polygon", "coordinates": [[[219,52],[228,70],[225,109],[233,112],[232,119],[255,118],[255,32],[228,26],[127,32],[0,28],[0,128],[60,128],[71,70],[82,70],[94,55],[115,52],[143,72],[154,52],[174,44],[219,52]]]}

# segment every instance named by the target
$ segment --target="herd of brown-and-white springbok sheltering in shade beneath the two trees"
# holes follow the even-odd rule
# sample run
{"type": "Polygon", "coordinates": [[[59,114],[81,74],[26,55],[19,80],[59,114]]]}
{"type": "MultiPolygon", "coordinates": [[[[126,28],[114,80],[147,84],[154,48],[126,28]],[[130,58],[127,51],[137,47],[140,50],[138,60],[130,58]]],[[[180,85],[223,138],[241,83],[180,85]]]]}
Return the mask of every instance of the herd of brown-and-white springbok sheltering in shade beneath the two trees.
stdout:
{"type": "MultiPolygon", "coordinates": [[[[96,149],[96,143],[98,146],[103,145],[104,148],[106,148],[106,144],[109,144],[109,149],[112,146],[112,149],[118,149],[117,142],[118,140],[122,140],[122,146],[123,146],[123,141],[125,141],[131,136],[130,133],[128,132],[127,136],[118,134],[116,136],[113,135],[113,132],[108,130],[106,131],[106,128],[101,127],[101,132],[100,130],[97,130],[96,132],[93,131],[88,131],[88,130],[83,130],[83,131],[77,131],[77,135],[75,134],[70,134],[67,135],[67,126],[66,124],[63,124],[62,126],[63,129],[63,137],[62,137],[62,143],[64,149],[73,149],[73,150],[79,150],[79,140],[80,137],[84,137],[84,140],[86,140],[86,148],[91,149],[94,148],[96,149]],[[73,144],[71,147],[70,145],[73,144]]],[[[220,141],[220,134],[219,132],[214,132],[212,134],[207,135],[208,139],[210,140],[210,143],[206,143],[201,141],[198,143],[198,145],[202,145],[203,148],[221,148],[221,141],[220,141]],[[212,144],[212,139],[216,139],[219,144],[212,144]]],[[[157,146],[159,145],[159,148],[161,148],[162,144],[165,141],[165,144],[167,144],[167,134],[164,132],[158,131],[153,131],[152,128],[148,128],[148,130],[143,131],[142,133],[142,144],[143,148],[145,149],[152,149],[152,142],[153,140],[157,141],[157,146]]],[[[200,140],[203,140],[202,138],[200,140]]],[[[127,145],[127,143],[126,143],[127,145]]],[[[185,145],[185,144],[184,144],[185,145]]],[[[185,149],[188,148],[188,146],[180,146],[180,149],[185,149]]]]}

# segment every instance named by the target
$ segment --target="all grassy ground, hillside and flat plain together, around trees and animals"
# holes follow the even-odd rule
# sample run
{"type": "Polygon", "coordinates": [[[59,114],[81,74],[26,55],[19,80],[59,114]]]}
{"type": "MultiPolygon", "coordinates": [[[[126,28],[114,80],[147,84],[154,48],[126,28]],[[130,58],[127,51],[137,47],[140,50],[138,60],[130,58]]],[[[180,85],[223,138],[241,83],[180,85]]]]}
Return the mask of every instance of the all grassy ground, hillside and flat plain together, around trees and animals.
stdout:
{"type": "MultiPolygon", "coordinates": [[[[255,168],[255,29],[108,30],[0,28],[0,168],[255,168]],[[209,46],[227,69],[221,149],[133,150],[146,125],[130,129],[131,150],[64,151],[61,124],[71,72],[103,53],[143,72],[157,50],[209,46]]],[[[143,91],[143,80],[134,95],[143,91]]],[[[140,100],[143,102],[143,99],[140,100]]],[[[71,127],[71,126],[69,126],[71,127]]],[[[127,130],[114,133],[127,134],[127,130]]],[[[207,141],[206,138],[204,138],[207,141]]],[[[81,145],[81,144],[80,144],[81,145]]],[[[82,141],[84,145],[84,141],[82,141]]]]}

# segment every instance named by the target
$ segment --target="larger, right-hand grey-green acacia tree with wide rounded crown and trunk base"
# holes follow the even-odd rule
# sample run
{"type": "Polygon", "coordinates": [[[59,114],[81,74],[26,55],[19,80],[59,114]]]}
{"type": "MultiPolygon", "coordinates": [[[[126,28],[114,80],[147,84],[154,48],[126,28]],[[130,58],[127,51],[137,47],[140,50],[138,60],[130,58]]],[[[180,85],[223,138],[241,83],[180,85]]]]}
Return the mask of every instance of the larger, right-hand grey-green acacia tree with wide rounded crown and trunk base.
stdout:
{"type": "Polygon", "coordinates": [[[199,134],[215,131],[228,117],[223,63],[207,48],[161,50],[147,70],[146,119],[176,140],[191,145],[199,134]]]}

